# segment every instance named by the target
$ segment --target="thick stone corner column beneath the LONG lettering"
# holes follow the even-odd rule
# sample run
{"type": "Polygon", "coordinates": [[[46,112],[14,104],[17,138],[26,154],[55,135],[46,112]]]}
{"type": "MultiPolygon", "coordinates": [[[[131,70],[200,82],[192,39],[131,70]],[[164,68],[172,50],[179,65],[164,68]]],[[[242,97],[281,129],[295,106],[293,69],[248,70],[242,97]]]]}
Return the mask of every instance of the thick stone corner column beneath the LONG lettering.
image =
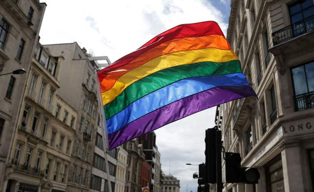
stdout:
{"type": "Polygon", "coordinates": [[[285,192],[304,192],[301,148],[290,146],[281,152],[285,192]]]}

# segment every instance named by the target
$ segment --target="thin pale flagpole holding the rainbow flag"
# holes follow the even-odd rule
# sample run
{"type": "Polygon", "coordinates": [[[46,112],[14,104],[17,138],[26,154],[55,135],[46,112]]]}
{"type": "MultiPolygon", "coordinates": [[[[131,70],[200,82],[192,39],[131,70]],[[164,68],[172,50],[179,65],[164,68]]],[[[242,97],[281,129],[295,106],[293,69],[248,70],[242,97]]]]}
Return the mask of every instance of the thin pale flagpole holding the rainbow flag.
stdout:
{"type": "Polygon", "coordinates": [[[106,125],[106,119],[105,119],[105,111],[104,111],[104,106],[103,106],[103,98],[102,94],[100,92],[100,83],[97,75],[97,68],[94,67],[94,74],[96,76],[96,82],[97,82],[97,97],[98,97],[98,108],[99,108],[99,118],[100,118],[100,123],[102,127],[102,134],[103,134],[103,148],[104,148],[104,154],[105,154],[105,164],[106,164],[106,172],[107,172],[107,180],[108,180],[108,188],[109,192],[112,192],[111,188],[111,181],[110,181],[110,173],[109,173],[109,165],[108,165],[108,153],[106,151],[109,151],[109,143],[108,143],[108,134],[107,134],[107,125],[106,125]],[[105,138],[105,139],[104,139],[105,138]]]}

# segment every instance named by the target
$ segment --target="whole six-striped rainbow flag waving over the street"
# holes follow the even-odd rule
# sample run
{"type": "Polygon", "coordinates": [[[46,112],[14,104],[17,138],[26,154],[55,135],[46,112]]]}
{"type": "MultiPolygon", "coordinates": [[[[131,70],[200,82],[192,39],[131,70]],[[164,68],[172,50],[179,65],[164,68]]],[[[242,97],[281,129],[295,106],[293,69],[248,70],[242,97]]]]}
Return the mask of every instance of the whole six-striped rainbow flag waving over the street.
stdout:
{"type": "Polygon", "coordinates": [[[215,105],[256,96],[212,21],[169,29],[98,78],[109,149],[215,105]]]}

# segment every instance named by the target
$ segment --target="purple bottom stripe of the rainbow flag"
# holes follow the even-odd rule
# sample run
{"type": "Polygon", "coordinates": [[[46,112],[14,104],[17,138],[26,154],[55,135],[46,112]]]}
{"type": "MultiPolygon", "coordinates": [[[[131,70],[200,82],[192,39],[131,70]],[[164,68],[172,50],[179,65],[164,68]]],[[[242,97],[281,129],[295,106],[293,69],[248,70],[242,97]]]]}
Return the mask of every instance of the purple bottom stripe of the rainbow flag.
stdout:
{"type": "Polygon", "coordinates": [[[246,96],[256,96],[249,85],[220,86],[187,96],[130,122],[118,131],[108,134],[109,149],[154,131],[170,122],[246,96]]]}

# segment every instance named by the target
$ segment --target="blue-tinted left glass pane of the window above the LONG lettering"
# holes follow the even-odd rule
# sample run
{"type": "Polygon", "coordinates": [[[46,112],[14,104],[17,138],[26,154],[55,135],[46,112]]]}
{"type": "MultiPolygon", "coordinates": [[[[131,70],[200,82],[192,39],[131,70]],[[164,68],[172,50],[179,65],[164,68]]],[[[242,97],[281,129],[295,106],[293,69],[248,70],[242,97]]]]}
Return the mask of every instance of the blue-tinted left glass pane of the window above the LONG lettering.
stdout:
{"type": "Polygon", "coordinates": [[[295,95],[300,95],[308,92],[306,86],[304,67],[299,66],[292,69],[293,85],[295,95]]]}

